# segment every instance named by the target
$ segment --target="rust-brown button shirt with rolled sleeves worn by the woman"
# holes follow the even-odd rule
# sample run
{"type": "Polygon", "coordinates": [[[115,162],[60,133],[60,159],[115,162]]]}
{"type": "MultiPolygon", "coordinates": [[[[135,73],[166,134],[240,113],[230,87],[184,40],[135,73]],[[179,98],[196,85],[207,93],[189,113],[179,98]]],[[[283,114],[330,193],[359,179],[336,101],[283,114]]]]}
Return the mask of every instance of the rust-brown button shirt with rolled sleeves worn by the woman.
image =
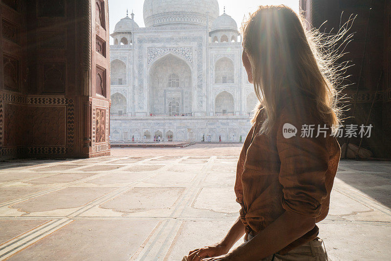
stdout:
{"type": "MultiPolygon", "coordinates": [[[[259,233],[285,210],[314,217],[316,222],[323,220],[341,155],[336,138],[330,136],[330,129],[316,137],[318,125],[324,127],[324,123],[305,105],[285,106],[269,136],[259,133],[263,120],[261,111],[244,142],[237,168],[235,193],[246,233],[259,233]],[[296,136],[284,137],[285,123],[297,128],[296,136]],[[315,125],[312,138],[301,137],[305,125],[315,125]]],[[[279,253],[315,239],[318,233],[315,225],[279,253]]]]}

